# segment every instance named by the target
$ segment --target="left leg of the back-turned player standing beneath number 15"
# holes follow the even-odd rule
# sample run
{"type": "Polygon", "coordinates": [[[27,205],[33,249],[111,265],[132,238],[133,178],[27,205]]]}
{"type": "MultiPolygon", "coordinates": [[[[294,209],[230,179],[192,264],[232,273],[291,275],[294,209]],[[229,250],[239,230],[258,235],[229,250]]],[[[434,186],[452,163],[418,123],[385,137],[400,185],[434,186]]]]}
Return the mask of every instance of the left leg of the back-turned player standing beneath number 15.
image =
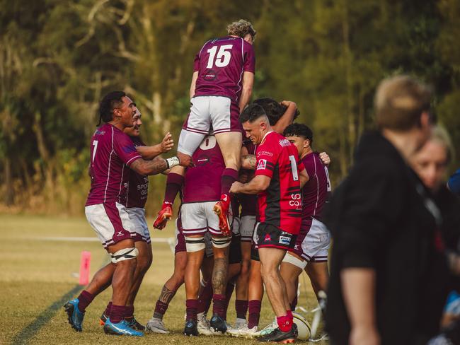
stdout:
{"type": "Polygon", "coordinates": [[[203,235],[185,237],[187,246],[187,265],[185,267],[185,305],[187,316],[184,334],[197,336],[197,308],[198,291],[200,289],[200,267],[205,254],[205,240],[203,235]]]}

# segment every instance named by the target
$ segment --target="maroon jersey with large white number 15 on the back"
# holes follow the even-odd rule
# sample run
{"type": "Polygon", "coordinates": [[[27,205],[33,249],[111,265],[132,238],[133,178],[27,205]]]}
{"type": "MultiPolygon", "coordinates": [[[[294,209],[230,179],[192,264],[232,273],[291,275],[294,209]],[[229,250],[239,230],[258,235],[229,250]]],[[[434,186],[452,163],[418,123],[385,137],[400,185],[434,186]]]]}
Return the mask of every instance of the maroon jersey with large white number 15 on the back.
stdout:
{"type": "Polygon", "coordinates": [[[195,96],[213,95],[238,102],[243,72],[255,71],[253,46],[241,37],[209,40],[195,56],[195,96]]]}

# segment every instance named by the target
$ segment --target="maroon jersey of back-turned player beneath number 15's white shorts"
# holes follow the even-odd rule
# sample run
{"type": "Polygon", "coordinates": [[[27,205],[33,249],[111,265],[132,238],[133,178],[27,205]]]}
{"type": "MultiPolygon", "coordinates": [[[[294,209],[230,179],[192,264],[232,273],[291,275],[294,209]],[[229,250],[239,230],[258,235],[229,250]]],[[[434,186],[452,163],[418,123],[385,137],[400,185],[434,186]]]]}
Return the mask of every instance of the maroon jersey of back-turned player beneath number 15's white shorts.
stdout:
{"type": "Polygon", "coordinates": [[[216,137],[207,136],[193,153],[192,160],[195,167],[185,172],[183,203],[219,201],[225,162],[216,137]]]}

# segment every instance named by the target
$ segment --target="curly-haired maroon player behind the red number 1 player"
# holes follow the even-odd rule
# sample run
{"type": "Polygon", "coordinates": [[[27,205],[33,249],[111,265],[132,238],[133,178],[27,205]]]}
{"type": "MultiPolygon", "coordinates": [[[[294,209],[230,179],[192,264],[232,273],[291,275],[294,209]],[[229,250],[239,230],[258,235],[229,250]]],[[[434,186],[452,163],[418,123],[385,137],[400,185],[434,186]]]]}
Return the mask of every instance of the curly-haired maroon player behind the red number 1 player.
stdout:
{"type": "Polygon", "coordinates": [[[291,124],[285,129],[284,136],[296,146],[309,175],[309,182],[302,188],[300,233],[294,248],[287,252],[280,268],[281,276],[286,283],[289,303],[292,303],[297,296],[297,279],[304,269],[309,275],[316,298],[319,291],[326,291],[329,277],[330,233],[321,219],[323,206],[331,189],[328,168],[323,165],[319,153],[311,148],[311,129],[305,124],[291,124]]]}

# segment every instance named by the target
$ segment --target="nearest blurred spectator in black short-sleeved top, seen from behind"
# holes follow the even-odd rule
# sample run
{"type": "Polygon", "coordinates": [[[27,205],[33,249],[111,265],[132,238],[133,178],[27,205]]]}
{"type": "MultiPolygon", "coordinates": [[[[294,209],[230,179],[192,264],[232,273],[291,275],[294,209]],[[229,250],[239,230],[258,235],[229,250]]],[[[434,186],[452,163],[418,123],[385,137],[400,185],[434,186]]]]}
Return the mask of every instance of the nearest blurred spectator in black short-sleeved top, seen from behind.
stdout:
{"type": "Polygon", "coordinates": [[[438,332],[449,284],[442,218],[408,166],[430,136],[431,96],[408,76],[380,84],[379,130],[362,137],[333,195],[326,214],[334,238],[331,344],[426,344],[438,332]]]}

